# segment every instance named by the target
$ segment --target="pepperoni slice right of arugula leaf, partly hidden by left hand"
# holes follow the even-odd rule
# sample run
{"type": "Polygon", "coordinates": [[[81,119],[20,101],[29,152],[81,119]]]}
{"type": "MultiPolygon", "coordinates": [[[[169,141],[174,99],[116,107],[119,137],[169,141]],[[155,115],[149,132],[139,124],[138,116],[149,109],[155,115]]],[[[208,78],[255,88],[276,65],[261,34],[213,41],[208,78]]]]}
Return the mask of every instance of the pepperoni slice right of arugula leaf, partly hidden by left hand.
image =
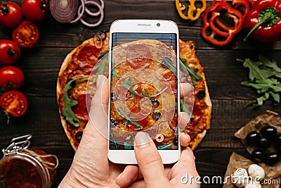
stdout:
{"type": "Polygon", "coordinates": [[[86,94],[81,94],[77,97],[76,100],[78,101],[78,104],[72,107],[72,111],[75,115],[77,115],[77,118],[79,118],[79,120],[88,121],[89,114],[86,106],[86,94]]]}

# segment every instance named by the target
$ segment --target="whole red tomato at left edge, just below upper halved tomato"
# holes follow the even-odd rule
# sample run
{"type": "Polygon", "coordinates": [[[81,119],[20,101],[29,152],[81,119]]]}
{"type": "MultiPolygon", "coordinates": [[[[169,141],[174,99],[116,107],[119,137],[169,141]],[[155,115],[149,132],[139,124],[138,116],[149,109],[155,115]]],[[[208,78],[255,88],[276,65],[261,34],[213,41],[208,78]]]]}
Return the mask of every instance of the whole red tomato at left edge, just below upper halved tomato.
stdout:
{"type": "Polygon", "coordinates": [[[0,63],[11,65],[20,58],[20,47],[11,40],[0,40],[0,63]]]}

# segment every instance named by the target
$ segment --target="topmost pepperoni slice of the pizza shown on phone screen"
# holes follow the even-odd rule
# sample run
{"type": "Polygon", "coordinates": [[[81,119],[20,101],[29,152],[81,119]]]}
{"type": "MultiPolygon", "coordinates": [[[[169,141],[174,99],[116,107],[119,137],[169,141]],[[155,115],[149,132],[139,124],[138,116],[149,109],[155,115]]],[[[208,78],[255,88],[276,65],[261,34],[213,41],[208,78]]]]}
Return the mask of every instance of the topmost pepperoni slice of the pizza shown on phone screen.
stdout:
{"type": "Polygon", "coordinates": [[[129,63],[133,69],[147,68],[152,62],[150,49],[145,44],[131,44],[126,46],[125,50],[126,63],[129,63]]]}

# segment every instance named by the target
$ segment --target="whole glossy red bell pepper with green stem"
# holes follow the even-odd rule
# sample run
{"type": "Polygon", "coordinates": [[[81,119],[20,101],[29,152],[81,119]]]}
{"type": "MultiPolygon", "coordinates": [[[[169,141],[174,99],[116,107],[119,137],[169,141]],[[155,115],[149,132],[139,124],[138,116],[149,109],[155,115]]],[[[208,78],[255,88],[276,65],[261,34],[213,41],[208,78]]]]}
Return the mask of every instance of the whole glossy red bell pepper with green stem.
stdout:
{"type": "Polygon", "coordinates": [[[253,37],[259,42],[275,42],[281,39],[281,1],[257,0],[244,20],[249,34],[244,42],[253,37]]]}

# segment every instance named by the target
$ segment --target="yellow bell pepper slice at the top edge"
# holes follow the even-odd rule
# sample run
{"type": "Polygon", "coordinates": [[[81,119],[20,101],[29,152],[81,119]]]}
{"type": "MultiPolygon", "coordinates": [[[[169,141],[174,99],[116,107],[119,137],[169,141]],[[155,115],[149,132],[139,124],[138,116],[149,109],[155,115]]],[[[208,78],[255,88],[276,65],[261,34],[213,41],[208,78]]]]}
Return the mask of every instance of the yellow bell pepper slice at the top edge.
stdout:
{"type": "Polygon", "coordinates": [[[181,18],[185,20],[197,20],[201,13],[205,11],[207,8],[207,3],[206,0],[187,0],[189,1],[189,6],[186,8],[185,5],[183,5],[180,0],[176,0],[176,10],[178,11],[178,14],[181,16],[181,18]],[[197,8],[195,5],[196,1],[201,1],[202,2],[202,7],[197,8]],[[187,15],[185,15],[183,12],[187,10],[187,15]]]}

